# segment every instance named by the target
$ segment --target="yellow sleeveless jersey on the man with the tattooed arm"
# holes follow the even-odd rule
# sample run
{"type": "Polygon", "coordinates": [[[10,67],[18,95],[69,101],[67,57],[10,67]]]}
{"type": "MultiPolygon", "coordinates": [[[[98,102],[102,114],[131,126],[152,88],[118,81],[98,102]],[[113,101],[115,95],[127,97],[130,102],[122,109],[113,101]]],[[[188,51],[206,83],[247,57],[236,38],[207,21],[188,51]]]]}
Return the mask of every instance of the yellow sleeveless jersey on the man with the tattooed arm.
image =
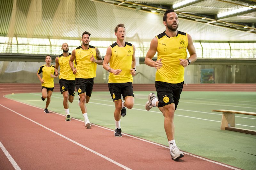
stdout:
{"type": "Polygon", "coordinates": [[[89,46],[83,49],[82,46],[76,48],[76,78],[94,78],[96,77],[97,64],[90,61],[91,56],[96,58],[96,48],[89,46]]]}

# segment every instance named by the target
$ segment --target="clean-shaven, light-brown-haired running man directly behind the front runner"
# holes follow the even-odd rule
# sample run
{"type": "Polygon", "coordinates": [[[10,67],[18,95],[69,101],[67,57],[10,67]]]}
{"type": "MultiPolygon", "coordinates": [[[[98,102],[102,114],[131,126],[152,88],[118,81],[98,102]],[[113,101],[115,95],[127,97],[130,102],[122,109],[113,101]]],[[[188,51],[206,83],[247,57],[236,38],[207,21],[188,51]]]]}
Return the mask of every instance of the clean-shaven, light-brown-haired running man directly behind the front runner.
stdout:
{"type": "Polygon", "coordinates": [[[110,72],[108,88],[116,107],[114,111],[115,137],[122,137],[120,121],[121,115],[126,115],[125,107],[131,109],[134,104],[132,76],[136,74],[135,47],[124,41],[125,34],[124,24],[118,24],[115,28],[116,42],[108,47],[103,61],[103,68],[110,72]],[[121,95],[124,102],[122,102],[121,95]]]}

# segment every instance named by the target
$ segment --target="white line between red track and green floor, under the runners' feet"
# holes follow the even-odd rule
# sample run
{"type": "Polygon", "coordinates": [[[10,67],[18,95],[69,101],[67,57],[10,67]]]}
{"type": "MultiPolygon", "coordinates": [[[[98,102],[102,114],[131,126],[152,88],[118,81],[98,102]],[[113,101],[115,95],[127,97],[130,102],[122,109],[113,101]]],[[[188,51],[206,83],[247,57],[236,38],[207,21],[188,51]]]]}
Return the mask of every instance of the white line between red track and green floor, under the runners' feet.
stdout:
{"type": "MultiPolygon", "coordinates": [[[[32,93],[32,94],[33,94],[33,93],[32,93]]],[[[7,99],[9,99],[9,98],[7,98],[7,99]]],[[[13,99],[9,99],[9,100],[16,101],[16,100],[13,100],[13,99]]],[[[20,101],[16,101],[16,102],[22,103],[22,102],[20,102],[20,101]]],[[[27,103],[22,103],[22,104],[25,104],[25,105],[28,105],[28,106],[31,106],[31,107],[36,107],[36,106],[33,106],[33,105],[29,105],[29,104],[27,104],[27,103]]],[[[42,108],[40,108],[40,107],[36,107],[36,108],[42,109],[42,108]]],[[[44,110],[44,109],[42,109],[42,110],[44,110]]],[[[51,112],[52,112],[52,111],[51,111],[51,112]]],[[[60,114],[60,113],[56,113],[56,112],[52,112],[52,113],[66,117],[65,115],[62,115],[62,114],[60,114]]],[[[72,119],[75,119],[75,120],[80,121],[80,122],[84,122],[84,121],[79,120],[79,119],[76,119],[76,118],[72,118],[72,119]]],[[[92,123],[91,123],[91,124],[92,124],[92,123]]],[[[100,127],[100,128],[102,128],[102,129],[110,130],[110,131],[113,131],[113,132],[115,131],[115,130],[113,130],[113,129],[108,129],[108,128],[105,128],[105,127],[103,127],[103,126],[99,126],[99,125],[96,125],[96,124],[92,124],[92,125],[97,126],[97,127],[100,127]]],[[[146,139],[139,138],[139,137],[134,137],[134,136],[128,135],[128,134],[126,134],[126,133],[122,133],[122,134],[123,134],[123,135],[126,135],[126,136],[128,136],[128,137],[132,137],[132,138],[135,138],[135,139],[138,139],[138,140],[141,140],[141,141],[150,143],[150,144],[154,144],[154,145],[161,146],[161,147],[163,147],[163,148],[168,148],[168,149],[169,149],[168,146],[165,146],[165,145],[162,145],[162,144],[158,144],[158,143],[155,143],[155,142],[151,142],[151,141],[148,141],[148,140],[146,140],[146,139]]],[[[183,151],[183,152],[184,152],[184,151],[183,151]]],[[[200,157],[200,156],[197,156],[197,155],[193,155],[193,154],[188,153],[188,152],[184,152],[184,153],[187,154],[187,155],[189,155],[189,156],[192,156],[192,157],[195,157],[195,158],[198,158],[198,159],[202,159],[202,160],[205,160],[205,161],[208,161],[208,162],[211,162],[211,163],[220,165],[220,166],[225,166],[225,167],[228,167],[228,168],[230,168],[230,169],[240,170],[240,169],[238,169],[238,168],[236,168],[236,167],[229,166],[229,165],[226,165],[226,164],[222,164],[222,163],[220,163],[220,162],[216,162],[216,161],[213,161],[213,160],[210,160],[210,159],[206,159],[206,158],[203,158],[203,157],[200,157]]]]}

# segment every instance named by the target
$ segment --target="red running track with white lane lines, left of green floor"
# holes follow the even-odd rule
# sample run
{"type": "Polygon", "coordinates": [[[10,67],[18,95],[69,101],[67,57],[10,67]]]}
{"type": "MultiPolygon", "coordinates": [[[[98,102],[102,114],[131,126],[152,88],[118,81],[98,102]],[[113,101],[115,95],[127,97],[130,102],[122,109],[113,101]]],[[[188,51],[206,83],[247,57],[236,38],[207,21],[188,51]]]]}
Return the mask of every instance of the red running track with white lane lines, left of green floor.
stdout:
{"type": "Polygon", "coordinates": [[[85,129],[82,121],[66,122],[63,115],[4,97],[40,92],[37,86],[0,84],[0,169],[237,169],[189,153],[173,161],[166,146],[114,137],[113,130],[94,124],[85,129]]]}

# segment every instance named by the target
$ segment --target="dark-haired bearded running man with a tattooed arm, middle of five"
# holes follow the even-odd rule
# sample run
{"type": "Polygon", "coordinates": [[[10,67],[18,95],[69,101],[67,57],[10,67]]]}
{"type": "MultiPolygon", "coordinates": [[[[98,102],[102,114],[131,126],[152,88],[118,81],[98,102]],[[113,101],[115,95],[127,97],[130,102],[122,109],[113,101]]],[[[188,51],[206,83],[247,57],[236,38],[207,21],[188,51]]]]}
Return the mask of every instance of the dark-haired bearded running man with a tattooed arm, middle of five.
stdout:
{"type": "Polygon", "coordinates": [[[102,65],[103,63],[99,49],[89,45],[90,35],[87,31],[82,34],[82,45],[72,51],[69,60],[70,68],[75,74],[79,106],[84,116],[86,128],[91,128],[91,123],[88,119],[85,103],[89,102],[92,94],[93,78],[96,77],[97,64],[102,65]],[[76,60],[76,68],[74,67],[74,60],[76,60]]]}

